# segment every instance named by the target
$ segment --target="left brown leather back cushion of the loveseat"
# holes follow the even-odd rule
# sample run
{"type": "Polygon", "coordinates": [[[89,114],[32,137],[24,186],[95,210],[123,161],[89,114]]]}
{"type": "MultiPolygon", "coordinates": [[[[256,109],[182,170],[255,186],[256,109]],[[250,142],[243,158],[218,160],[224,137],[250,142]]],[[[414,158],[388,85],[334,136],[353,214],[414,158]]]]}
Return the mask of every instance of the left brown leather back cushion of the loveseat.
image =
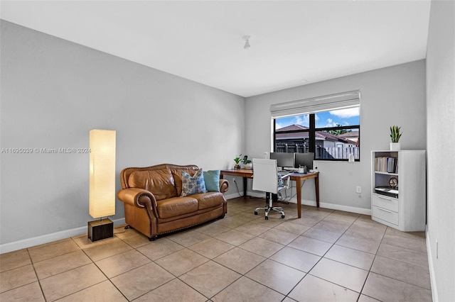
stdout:
{"type": "Polygon", "coordinates": [[[150,191],[157,201],[177,196],[170,169],[135,171],[129,176],[128,185],[150,191]]]}

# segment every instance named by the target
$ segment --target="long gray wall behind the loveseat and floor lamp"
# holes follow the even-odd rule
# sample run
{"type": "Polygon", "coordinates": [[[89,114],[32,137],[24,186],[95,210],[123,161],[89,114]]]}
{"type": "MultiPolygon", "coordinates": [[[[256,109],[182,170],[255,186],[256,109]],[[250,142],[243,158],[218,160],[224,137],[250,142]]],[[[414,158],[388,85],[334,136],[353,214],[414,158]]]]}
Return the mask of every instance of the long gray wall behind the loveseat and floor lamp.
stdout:
{"type": "MultiPolygon", "coordinates": [[[[90,129],[112,129],[117,175],[164,162],[224,169],[244,147],[244,108],[240,96],[1,21],[1,148],[88,147],[90,129]]],[[[88,167],[88,154],[1,153],[1,252],[86,233],[88,167]]],[[[122,218],[117,200],[112,219],[122,218]]]]}

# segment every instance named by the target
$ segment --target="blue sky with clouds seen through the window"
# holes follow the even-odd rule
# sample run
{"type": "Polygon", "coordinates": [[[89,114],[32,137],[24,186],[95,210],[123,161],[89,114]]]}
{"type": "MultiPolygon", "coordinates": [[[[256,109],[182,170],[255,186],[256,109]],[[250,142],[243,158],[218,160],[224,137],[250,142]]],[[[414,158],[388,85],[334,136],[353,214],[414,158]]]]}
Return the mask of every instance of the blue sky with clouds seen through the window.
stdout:
{"type": "MultiPolygon", "coordinates": [[[[277,129],[294,124],[309,127],[309,115],[277,118],[276,123],[277,129]]],[[[337,124],[360,125],[360,108],[347,108],[316,113],[316,128],[335,127],[337,124]]]]}

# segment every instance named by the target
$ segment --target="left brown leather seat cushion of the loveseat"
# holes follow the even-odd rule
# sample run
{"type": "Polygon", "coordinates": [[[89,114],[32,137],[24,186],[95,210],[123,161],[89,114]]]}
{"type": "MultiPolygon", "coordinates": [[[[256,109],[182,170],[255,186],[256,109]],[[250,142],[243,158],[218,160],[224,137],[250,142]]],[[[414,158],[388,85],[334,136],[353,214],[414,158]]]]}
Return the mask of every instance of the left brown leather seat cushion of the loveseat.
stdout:
{"type": "Polygon", "coordinates": [[[159,218],[171,218],[198,211],[198,201],[193,197],[173,197],[157,202],[159,218]]]}

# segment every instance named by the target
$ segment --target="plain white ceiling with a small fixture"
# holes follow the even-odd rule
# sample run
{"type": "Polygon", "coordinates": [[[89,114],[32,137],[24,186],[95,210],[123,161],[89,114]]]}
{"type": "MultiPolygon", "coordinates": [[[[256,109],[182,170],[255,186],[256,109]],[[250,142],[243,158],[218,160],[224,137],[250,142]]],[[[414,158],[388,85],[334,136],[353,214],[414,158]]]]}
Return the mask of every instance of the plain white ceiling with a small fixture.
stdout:
{"type": "Polygon", "coordinates": [[[247,97],[424,59],[429,11],[430,0],[1,1],[0,16],[247,97]]]}

